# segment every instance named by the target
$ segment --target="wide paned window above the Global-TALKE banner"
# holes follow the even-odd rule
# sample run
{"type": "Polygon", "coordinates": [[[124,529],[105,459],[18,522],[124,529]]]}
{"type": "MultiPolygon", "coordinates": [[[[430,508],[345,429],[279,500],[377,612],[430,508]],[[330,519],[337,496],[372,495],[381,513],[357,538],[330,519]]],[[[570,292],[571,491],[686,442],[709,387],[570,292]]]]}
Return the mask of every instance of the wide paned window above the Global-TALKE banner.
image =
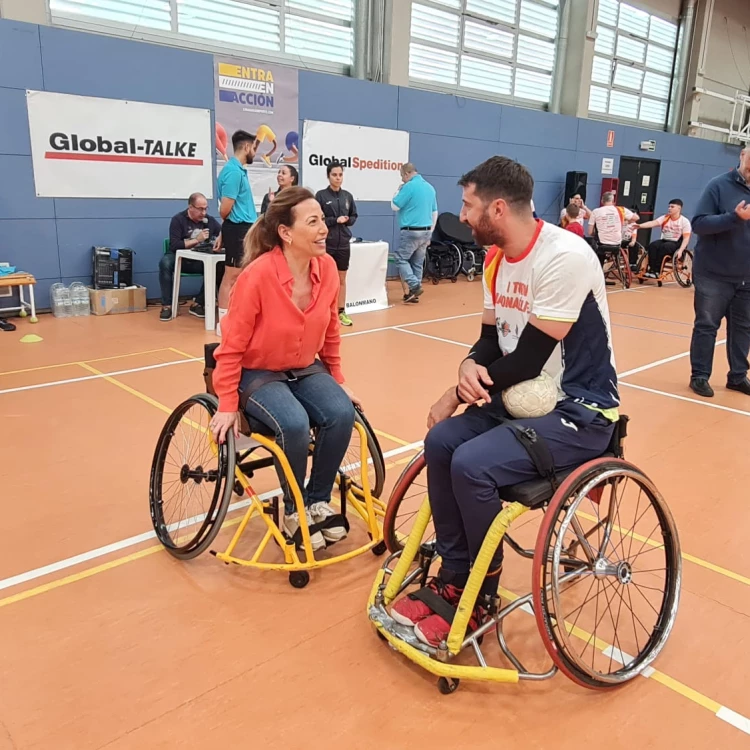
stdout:
{"type": "Polygon", "coordinates": [[[50,0],[56,25],[304,67],[354,60],[354,0],[50,0]]]}

